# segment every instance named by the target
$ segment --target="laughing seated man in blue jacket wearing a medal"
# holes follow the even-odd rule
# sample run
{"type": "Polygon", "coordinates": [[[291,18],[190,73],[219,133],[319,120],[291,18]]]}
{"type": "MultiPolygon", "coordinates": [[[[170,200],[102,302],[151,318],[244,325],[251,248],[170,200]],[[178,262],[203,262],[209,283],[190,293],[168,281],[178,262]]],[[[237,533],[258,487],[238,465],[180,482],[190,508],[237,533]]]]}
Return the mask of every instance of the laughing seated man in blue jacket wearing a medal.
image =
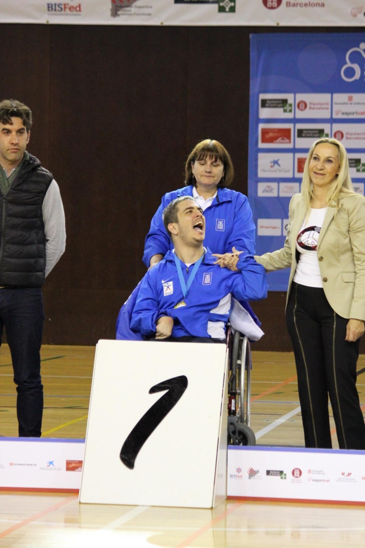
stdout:
{"type": "Polygon", "coordinates": [[[235,271],[215,264],[203,246],[205,218],[194,198],[173,200],[163,219],[174,249],[144,276],[130,328],[150,340],[225,343],[231,296],[264,299],[265,270],[243,252],[235,271]]]}

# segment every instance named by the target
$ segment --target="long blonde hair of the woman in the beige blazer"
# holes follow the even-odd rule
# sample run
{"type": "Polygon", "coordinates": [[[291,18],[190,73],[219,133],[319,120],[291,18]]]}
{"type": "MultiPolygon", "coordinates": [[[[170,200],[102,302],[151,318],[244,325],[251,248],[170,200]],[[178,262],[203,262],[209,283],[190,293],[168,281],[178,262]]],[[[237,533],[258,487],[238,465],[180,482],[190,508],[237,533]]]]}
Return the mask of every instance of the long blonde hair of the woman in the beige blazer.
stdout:
{"type": "Polygon", "coordinates": [[[349,171],[349,158],[347,158],[347,152],[344,145],[337,139],[324,137],[315,141],[310,147],[308,157],[304,165],[304,173],[302,180],[302,188],[300,193],[304,197],[305,207],[307,212],[309,212],[310,204],[312,198],[314,198],[313,185],[309,175],[309,164],[313,156],[314,149],[317,145],[322,143],[328,143],[329,145],[334,145],[337,147],[339,152],[339,161],[340,161],[340,170],[337,177],[333,179],[331,184],[328,187],[327,191],[327,204],[329,207],[339,208],[339,199],[346,196],[353,196],[356,194],[354,192],[354,187],[352,187],[352,181],[349,171]]]}

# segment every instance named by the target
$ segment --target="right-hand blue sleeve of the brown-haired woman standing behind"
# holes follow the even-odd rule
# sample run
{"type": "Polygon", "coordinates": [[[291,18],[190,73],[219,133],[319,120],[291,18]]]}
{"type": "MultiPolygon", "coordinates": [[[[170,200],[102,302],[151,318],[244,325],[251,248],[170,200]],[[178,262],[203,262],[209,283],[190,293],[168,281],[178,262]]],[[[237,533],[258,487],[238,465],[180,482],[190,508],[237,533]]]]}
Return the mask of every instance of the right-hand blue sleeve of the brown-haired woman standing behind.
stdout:
{"type": "Polygon", "coordinates": [[[225,253],[232,253],[234,246],[237,251],[245,251],[250,255],[254,255],[256,228],[252,220],[252,211],[247,196],[241,194],[241,192],[237,192],[233,227],[225,253]]]}

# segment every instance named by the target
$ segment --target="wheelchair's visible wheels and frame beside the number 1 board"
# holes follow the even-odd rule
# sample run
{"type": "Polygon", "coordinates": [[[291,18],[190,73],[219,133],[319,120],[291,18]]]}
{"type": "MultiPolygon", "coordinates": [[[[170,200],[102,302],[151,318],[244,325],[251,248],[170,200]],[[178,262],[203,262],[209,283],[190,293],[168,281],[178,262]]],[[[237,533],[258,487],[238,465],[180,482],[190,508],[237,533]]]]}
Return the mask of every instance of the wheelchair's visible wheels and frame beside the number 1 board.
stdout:
{"type": "Polygon", "coordinates": [[[248,337],[228,329],[228,445],[253,446],[256,437],[250,428],[251,347],[248,337]],[[246,379],[245,379],[246,377],[246,379]],[[246,380],[246,383],[245,383],[246,380]]]}

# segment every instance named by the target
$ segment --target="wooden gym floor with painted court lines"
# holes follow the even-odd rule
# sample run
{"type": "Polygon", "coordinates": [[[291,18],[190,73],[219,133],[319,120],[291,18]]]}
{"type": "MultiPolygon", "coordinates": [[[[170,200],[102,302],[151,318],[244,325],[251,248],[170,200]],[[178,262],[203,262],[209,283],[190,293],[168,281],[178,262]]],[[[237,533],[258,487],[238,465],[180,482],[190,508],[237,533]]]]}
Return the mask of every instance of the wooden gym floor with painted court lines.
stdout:
{"type": "MultiPolygon", "coordinates": [[[[84,438],[94,347],[43,346],[43,437],[84,438]]],[[[304,445],[292,353],[253,352],[251,427],[258,444],[304,445]]],[[[365,356],[357,387],[365,409],[365,356]],[[362,372],[364,369],[364,372],[362,372]]],[[[0,350],[0,435],[16,436],[16,392],[0,350]]],[[[330,409],[331,413],[331,409],[330,409]]],[[[337,439],[331,419],[333,447],[337,439]]],[[[77,496],[0,494],[0,546],[364,546],[365,507],[226,501],[215,510],[79,505],[77,496]]]]}

